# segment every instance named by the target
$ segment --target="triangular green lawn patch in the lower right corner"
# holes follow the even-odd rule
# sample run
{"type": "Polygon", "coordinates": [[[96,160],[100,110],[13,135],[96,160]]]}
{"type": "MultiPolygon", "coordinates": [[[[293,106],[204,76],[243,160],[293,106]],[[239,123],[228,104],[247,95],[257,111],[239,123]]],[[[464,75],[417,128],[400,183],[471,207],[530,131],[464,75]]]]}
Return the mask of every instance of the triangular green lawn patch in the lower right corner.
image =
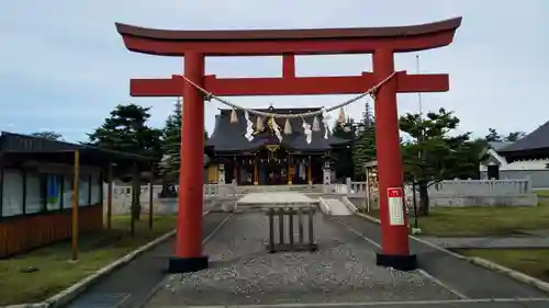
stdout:
{"type": "Polygon", "coordinates": [[[463,249],[456,252],[479,256],[549,282],[549,249],[463,249]]]}

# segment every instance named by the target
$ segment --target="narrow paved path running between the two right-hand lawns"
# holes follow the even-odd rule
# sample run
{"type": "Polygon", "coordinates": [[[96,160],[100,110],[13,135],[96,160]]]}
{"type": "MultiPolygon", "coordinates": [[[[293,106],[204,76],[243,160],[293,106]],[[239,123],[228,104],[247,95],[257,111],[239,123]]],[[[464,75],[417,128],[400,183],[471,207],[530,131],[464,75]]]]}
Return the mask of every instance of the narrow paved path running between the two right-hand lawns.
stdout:
{"type": "Polygon", "coordinates": [[[434,244],[457,249],[457,248],[549,248],[549,237],[516,237],[516,238],[440,238],[422,237],[422,239],[434,244]]]}

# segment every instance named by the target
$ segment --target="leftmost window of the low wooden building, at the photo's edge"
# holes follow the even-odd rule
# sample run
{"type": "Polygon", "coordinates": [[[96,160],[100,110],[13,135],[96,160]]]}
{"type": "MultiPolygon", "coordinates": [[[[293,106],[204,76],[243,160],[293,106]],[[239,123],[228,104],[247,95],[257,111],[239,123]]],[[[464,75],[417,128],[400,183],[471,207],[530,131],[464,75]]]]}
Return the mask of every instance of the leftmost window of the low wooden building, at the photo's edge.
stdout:
{"type": "Polygon", "coordinates": [[[2,181],[3,217],[23,214],[23,173],[18,170],[4,170],[2,181]]]}

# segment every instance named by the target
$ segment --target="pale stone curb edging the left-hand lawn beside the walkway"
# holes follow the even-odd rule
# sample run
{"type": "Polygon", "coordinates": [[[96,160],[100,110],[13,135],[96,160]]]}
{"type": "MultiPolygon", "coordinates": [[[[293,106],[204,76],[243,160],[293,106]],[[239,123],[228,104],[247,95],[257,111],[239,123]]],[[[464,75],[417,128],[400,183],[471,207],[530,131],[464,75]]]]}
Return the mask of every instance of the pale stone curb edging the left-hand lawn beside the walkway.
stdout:
{"type": "MultiPolygon", "coordinates": [[[[204,216],[210,214],[210,212],[204,212],[204,216]]],[[[34,303],[34,304],[16,304],[16,305],[8,305],[8,306],[0,306],[0,308],[53,308],[53,307],[59,307],[63,305],[68,304],[76,297],[78,297],[80,294],[82,294],[88,287],[91,285],[96,284],[99,280],[103,278],[104,276],[108,276],[115,270],[122,267],[123,265],[130,263],[132,260],[141,255],[142,253],[155,248],[156,246],[165,242],[172,236],[175,236],[177,230],[171,230],[154,240],[150,242],[137,248],[136,250],[127,253],[126,255],[111,262],[110,264],[101,267],[98,270],[96,273],[88,275],[83,280],[79,281],[78,283],[69,286],[68,288],[57,293],[56,295],[47,298],[46,300],[42,303],[34,303]]]]}

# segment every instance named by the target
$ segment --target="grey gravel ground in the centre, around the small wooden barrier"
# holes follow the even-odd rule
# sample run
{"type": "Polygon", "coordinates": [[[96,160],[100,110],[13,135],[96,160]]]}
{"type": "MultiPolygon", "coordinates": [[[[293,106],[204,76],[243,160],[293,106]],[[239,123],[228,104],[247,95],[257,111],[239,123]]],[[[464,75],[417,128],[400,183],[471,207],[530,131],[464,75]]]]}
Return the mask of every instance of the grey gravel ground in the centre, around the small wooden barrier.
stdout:
{"type": "Polygon", "coordinates": [[[456,299],[416,272],[374,265],[374,248],[317,215],[317,252],[268,254],[264,214],[236,215],[206,243],[212,267],[170,275],[147,307],[456,299]]]}

